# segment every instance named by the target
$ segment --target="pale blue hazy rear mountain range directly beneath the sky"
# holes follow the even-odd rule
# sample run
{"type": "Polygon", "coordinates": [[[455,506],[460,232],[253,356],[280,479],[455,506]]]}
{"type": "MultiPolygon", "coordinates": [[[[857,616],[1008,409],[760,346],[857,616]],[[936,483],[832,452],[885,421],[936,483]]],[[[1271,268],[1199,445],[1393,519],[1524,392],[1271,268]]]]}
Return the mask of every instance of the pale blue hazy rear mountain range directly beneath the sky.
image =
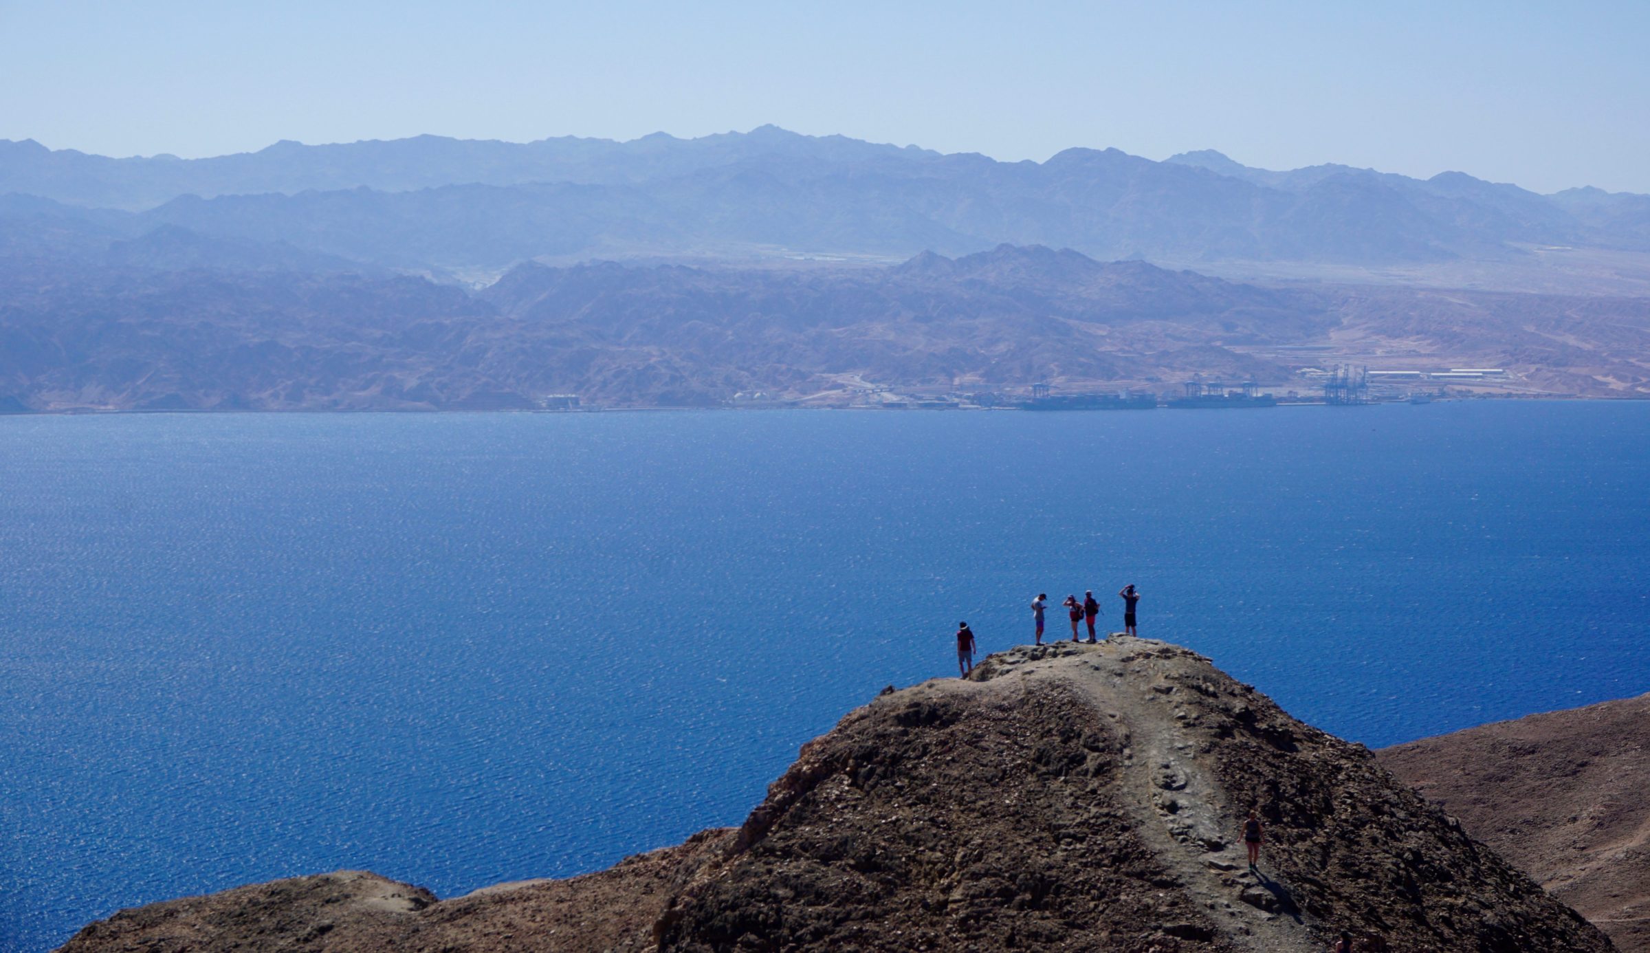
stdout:
{"type": "MultiPolygon", "coordinates": [[[[525,259],[813,254],[888,261],[1002,242],[1097,259],[1386,265],[1530,246],[1650,252],[1650,196],[1543,196],[1464,173],[1267,171],[1218,152],[1152,162],[940,155],[776,127],[681,140],[416,137],[106,158],[0,142],[0,195],[125,237],[160,226],[437,275],[525,259]]],[[[0,228],[18,228],[15,216],[0,228]]]]}

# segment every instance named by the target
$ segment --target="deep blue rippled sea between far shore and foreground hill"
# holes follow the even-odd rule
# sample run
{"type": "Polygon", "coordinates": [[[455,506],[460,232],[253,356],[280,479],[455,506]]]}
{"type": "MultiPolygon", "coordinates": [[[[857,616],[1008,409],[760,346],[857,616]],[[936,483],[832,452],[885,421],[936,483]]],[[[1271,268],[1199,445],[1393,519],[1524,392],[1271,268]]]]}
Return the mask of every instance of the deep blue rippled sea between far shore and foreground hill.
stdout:
{"type": "Polygon", "coordinates": [[[1650,691],[1647,475],[1650,404],[0,417],[0,950],[738,823],[1040,590],[1371,747],[1650,691]]]}

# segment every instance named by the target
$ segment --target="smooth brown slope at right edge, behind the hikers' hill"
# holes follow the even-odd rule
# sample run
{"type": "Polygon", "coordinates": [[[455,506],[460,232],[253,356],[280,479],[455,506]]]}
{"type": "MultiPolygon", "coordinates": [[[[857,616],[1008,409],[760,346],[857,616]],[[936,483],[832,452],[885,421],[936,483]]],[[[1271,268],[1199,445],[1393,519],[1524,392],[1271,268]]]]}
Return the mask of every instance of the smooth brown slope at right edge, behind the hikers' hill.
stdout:
{"type": "Polygon", "coordinates": [[[1650,696],[1396,745],[1381,763],[1615,940],[1650,950],[1650,696]]]}

